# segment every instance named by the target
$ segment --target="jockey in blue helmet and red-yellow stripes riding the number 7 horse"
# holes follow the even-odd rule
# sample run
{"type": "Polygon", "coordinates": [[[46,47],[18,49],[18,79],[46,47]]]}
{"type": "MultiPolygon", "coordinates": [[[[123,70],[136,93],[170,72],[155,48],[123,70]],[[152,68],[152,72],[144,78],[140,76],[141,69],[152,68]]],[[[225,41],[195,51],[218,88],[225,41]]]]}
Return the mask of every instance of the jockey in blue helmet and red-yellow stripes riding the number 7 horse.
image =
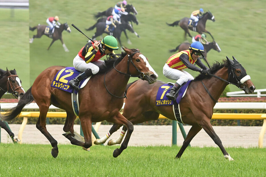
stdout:
{"type": "Polygon", "coordinates": [[[170,92],[166,94],[167,98],[174,100],[175,92],[180,86],[183,83],[194,79],[191,74],[183,69],[189,68],[205,74],[209,73],[207,66],[205,66],[199,59],[199,55],[202,55],[202,52],[204,52],[203,45],[196,41],[190,45],[189,50],[180,51],[167,60],[163,66],[163,75],[169,79],[177,80],[170,92]],[[194,63],[196,63],[201,69],[194,66],[194,63]]]}

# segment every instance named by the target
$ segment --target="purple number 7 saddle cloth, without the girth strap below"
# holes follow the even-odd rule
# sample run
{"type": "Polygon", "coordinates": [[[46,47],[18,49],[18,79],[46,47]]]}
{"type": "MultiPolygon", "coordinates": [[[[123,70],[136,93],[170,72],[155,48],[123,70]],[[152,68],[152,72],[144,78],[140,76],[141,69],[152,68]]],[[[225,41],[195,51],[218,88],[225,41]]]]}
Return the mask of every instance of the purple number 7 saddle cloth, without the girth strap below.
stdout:
{"type": "MultiPolygon", "coordinates": [[[[183,94],[185,93],[187,87],[189,86],[191,80],[187,83],[183,84],[181,88],[179,89],[178,93],[176,94],[176,103],[179,104],[181,101],[181,98],[183,94]]],[[[172,88],[172,85],[169,84],[163,84],[159,87],[156,95],[156,106],[167,106],[167,105],[173,105],[173,100],[168,99],[166,97],[166,94],[169,93],[170,89],[172,88]]]]}

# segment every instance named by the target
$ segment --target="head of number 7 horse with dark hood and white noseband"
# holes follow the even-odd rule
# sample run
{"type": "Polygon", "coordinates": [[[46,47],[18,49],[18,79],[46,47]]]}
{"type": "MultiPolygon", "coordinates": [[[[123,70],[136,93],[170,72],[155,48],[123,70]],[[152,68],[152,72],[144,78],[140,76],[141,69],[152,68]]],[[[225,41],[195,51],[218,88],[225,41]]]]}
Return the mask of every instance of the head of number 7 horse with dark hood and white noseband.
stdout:
{"type": "Polygon", "coordinates": [[[255,86],[250,80],[250,76],[247,75],[245,68],[235,59],[229,59],[227,61],[229,63],[228,66],[228,81],[231,84],[236,85],[238,88],[245,91],[245,94],[254,93],[255,86]]]}

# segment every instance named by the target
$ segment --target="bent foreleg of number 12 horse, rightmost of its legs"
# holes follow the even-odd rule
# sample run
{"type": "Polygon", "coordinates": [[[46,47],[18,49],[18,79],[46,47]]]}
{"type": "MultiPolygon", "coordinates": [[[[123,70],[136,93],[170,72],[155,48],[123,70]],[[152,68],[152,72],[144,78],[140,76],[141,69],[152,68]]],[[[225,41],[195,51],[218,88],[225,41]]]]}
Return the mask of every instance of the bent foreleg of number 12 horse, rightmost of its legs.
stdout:
{"type": "Polygon", "coordinates": [[[124,125],[126,125],[126,127],[128,129],[128,132],[126,134],[126,137],[125,137],[123,143],[121,144],[121,147],[115,149],[113,152],[113,157],[118,157],[118,155],[120,155],[122,153],[122,151],[124,149],[126,149],[128,146],[128,141],[129,141],[130,136],[134,130],[133,124],[129,120],[127,120],[124,116],[122,116],[122,114],[119,112],[116,114],[116,116],[110,118],[108,121],[113,122],[115,124],[119,124],[119,125],[124,124],[124,125]]]}

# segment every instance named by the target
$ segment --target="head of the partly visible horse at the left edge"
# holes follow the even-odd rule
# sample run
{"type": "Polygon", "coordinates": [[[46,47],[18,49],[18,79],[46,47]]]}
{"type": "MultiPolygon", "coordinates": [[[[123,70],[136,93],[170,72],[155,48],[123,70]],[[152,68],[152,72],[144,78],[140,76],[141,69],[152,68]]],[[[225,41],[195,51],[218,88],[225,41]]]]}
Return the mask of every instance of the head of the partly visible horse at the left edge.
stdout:
{"type": "Polygon", "coordinates": [[[15,69],[10,71],[7,69],[6,74],[7,74],[6,92],[12,93],[17,99],[20,99],[24,95],[25,91],[21,86],[21,80],[17,75],[17,71],[15,69]]]}

